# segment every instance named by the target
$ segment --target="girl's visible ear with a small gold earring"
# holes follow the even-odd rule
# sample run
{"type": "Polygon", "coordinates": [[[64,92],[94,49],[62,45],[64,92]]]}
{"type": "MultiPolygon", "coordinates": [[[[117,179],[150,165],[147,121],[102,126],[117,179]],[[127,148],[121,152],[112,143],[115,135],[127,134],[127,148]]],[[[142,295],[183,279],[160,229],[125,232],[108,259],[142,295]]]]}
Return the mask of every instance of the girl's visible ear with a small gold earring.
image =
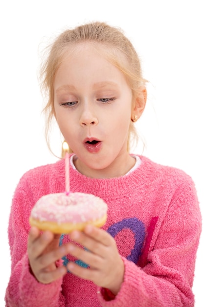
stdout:
{"type": "Polygon", "coordinates": [[[138,90],[135,101],[133,102],[133,109],[131,113],[131,118],[140,118],[142,115],[147,101],[147,90],[145,86],[141,86],[138,90]]]}

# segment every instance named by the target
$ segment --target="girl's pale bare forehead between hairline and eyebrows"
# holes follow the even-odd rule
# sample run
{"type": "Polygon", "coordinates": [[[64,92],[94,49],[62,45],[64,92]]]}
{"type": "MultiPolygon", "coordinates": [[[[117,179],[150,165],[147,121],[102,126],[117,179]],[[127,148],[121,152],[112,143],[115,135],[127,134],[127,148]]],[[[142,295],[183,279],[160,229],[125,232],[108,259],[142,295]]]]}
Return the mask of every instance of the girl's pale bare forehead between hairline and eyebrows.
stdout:
{"type": "MultiPolygon", "coordinates": [[[[121,51],[113,50],[113,48],[103,44],[95,42],[75,43],[64,51],[54,77],[54,83],[59,75],[64,75],[66,78],[76,75],[80,79],[86,73],[86,78],[95,77],[98,79],[101,76],[105,81],[105,76],[110,77],[110,79],[120,76],[123,81],[125,78],[125,81],[129,83],[123,69],[125,61],[127,60],[121,51]]],[[[97,82],[100,82],[100,78],[97,82]]],[[[105,82],[104,85],[106,85],[105,82]]]]}

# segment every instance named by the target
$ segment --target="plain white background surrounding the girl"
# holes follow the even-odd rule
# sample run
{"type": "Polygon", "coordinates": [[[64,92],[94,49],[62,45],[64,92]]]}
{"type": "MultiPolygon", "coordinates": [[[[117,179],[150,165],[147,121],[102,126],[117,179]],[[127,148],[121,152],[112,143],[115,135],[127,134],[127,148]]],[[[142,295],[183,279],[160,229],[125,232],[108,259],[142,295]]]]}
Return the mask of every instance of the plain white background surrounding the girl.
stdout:
{"type": "MultiPolygon", "coordinates": [[[[144,155],[194,180],[204,215],[204,9],[202,0],[41,0],[0,4],[0,306],[10,274],[7,226],[15,187],[27,170],[57,160],[46,147],[37,71],[40,50],[62,30],[90,21],[119,26],[149,80],[137,123],[144,155]],[[134,4],[134,7],[133,7],[134,4]]],[[[141,145],[141,144],[140,144],[141,145]]],[[[59,133],[52,147],[60,154],[59,133]]],[[[142,153],[139,146],[136,153],[142,153]]],[[[204,237],[194,293],[204,306],[204,237]]]]}

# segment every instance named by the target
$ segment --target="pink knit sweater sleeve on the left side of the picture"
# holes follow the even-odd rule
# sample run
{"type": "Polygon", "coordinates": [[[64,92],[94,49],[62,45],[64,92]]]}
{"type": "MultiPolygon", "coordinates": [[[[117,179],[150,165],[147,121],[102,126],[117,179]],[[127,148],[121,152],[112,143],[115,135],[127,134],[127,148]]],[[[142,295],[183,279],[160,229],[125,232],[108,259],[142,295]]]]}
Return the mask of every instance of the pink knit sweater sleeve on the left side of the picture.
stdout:
{"type": "Polygon", "coordinates": [[[27,256],[28,218],[33,204],[32,193],[23,179],[14,194],[8,226],[11,252],[11,276],[6,289],[6,307],[64,307],[62,279],[49,284],[38,282],[30,274],[27,256]]]}

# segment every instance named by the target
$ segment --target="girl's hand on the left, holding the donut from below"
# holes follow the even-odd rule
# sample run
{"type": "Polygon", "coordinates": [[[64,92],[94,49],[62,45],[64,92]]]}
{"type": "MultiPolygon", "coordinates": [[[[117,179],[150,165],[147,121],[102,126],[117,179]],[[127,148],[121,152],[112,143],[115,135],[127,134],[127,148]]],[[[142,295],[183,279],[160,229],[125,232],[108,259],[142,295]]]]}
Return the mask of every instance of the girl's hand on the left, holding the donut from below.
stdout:
{"type": "Polygon", "coordinates": [[[31,227],[28,236],[28,258],[32,274],[42,283],[55,281],[67,273],[65,266],[56,266],[56,261],[67,255],[67,246],[59,247],[60,234],[45,231],[42,234],[31,227]]]}

